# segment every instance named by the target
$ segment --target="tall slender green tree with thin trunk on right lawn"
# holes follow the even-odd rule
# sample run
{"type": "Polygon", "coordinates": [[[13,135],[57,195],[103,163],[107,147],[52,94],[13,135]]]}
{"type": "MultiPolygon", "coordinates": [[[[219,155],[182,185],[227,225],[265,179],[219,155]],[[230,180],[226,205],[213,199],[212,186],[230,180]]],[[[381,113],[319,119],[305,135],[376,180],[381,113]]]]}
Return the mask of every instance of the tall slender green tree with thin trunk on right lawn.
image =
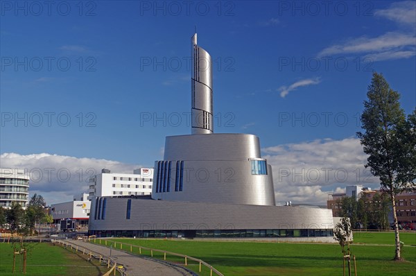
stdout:
{"type": "Polygon", "coordinates": [[[364,133],[357,132],[367,157],[366,167],[380,179],[381,189],[392,200],[395,224],[395,259],[401,259],[395,195],[405,187],[415,188],[415,112],[408,117],[399,103],[400,94],[383,75],[374,72],[361,115],[364,133]]]}

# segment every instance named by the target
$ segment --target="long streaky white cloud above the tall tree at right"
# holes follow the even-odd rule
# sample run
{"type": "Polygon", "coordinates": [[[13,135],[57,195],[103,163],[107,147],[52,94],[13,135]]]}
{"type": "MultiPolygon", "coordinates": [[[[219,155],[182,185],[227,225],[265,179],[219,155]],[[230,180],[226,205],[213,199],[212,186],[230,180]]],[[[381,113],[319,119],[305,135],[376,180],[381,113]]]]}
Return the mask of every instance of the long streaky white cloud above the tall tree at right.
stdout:
{"type": "Polygon", "coordinates": [[[401,49],[408,46],[412,47],[414,51],[415,44],[416,37],[414,34],[389,32],[379,37],[358,37],[347,40],[344,44],[329,46],[320,51],[318,56],[368,52],[381,53],[383,51],[395,52],[401,51],[401,49]]]}

